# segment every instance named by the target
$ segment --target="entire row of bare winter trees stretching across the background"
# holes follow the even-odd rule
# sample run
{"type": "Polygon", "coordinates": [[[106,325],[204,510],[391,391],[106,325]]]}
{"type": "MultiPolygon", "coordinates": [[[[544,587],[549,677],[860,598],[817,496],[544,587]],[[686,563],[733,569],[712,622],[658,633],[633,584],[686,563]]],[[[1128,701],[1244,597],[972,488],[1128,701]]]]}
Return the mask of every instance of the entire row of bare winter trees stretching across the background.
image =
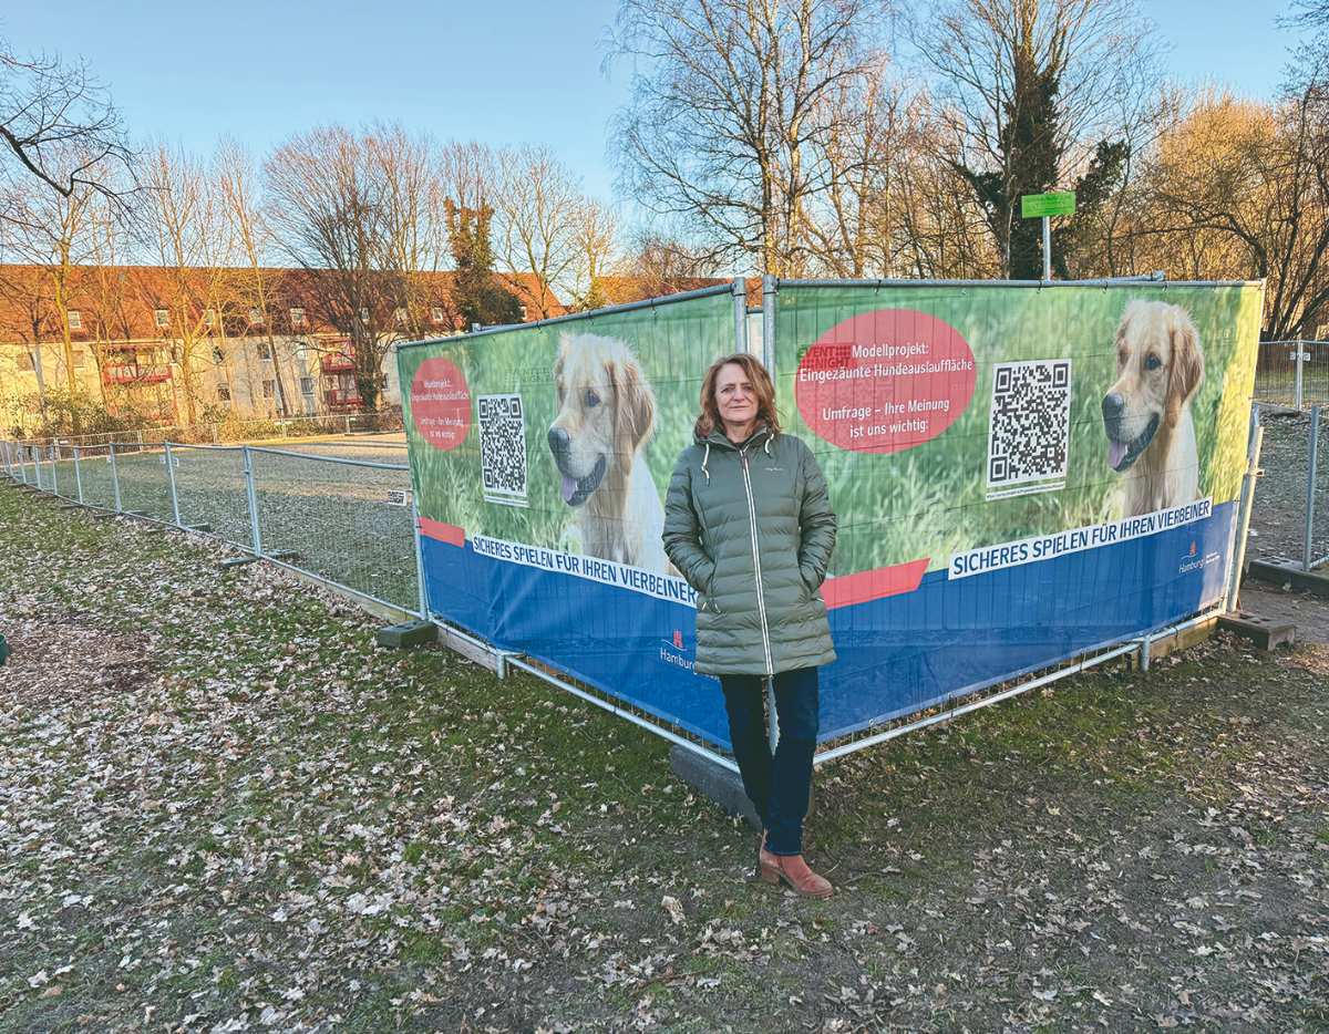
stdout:
{"type": "Polygon", "coordinates": [[[114,340],[122,267],[157,267],[189,388],[209,312],[225,330],[256,310],[271,335],[298,290],[351,342],[372,407],[385,348],[437,334],[440,308],[452,328],[595,307],[607,274],[662,291],[732,272],[1037,278],[1019,198],[1074,189],[1058,276],[1265,278],[1264,335],[1313,336],[1329,323],[1329,0],[1284,17],[1285,84],[1256,101],[1176,86],[1135,0],[621,0],[607,60],[630,96],[607,133],[630,227],[541,145],[379,124],[260,157],[134,146],[84,65],[0,43],[0,246],[43,272],[37,292],[0,291],[24,335],[54,322],[73,388],[73,292],[114,340]],[[496,271],[534,287],[518,299],[496,271]]]}

